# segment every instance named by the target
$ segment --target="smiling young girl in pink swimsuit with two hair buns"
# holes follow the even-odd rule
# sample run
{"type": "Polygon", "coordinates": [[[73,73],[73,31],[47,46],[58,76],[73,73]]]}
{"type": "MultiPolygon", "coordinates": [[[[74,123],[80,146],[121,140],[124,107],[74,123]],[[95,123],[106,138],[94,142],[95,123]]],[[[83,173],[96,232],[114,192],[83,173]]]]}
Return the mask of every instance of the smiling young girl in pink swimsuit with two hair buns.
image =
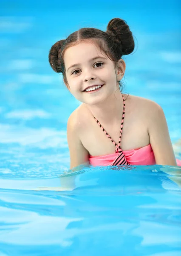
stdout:
{"type": "Polygon", "coordinates": [[[129,26],[119,18],[110,20],[106,32],[79,29],[51,47],[51,67],[82,102],[68,119],[71,169],[89,163],[181,166],[162,108],[122,93],[122,56],[134,47],[129,26]]]}

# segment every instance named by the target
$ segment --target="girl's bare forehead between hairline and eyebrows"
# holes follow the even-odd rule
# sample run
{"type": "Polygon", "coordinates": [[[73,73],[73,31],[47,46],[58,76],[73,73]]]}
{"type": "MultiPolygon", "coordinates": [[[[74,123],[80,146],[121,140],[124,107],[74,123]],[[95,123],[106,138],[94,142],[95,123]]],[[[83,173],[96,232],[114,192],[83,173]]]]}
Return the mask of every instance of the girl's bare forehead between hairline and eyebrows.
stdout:
{"type": "Polygon", "coordinates": [[[65,66],[82,63],[94,57],[106,57],[106,54],[101,51],[100,47],[93,42],[83,41],[75,46],[69,47],[64,53],[65,66]]]}

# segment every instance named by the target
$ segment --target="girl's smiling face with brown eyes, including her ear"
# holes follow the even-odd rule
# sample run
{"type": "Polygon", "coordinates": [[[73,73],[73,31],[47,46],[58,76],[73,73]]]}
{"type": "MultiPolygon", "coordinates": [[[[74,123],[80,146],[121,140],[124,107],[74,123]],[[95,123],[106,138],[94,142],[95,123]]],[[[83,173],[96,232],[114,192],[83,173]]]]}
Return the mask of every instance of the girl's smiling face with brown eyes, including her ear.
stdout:
{"type": "Polygon", "coordinates": [[[67,87],[80,102],[96,105],[113,95],[123,73],[99,47],[82,41],[64,54],[67,87]]]}

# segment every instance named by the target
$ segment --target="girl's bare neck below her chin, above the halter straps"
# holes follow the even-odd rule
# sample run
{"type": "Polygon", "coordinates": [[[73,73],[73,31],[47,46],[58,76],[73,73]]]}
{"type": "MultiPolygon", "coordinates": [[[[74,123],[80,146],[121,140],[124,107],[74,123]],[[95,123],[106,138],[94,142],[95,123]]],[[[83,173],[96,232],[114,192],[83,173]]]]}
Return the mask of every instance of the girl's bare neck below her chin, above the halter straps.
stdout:
{"type": "Polygon", "coordinates": [[[116,90],[105,102],[99,105],[87,105],[87,107],[93,116],[100,121],[112,124],[114,122],[120,122],[123,110],[122,93],[120,90],[116,90]]]}

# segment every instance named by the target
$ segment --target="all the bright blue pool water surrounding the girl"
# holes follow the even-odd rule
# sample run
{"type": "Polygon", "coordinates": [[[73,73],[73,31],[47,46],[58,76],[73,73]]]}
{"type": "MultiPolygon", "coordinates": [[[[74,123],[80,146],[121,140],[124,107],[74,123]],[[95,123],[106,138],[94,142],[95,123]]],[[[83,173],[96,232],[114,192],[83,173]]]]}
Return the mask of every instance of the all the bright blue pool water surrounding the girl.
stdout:
{"type": "Polygon", "coordinates": [[[181,255],[181,168],[69,172],[66,124],[80,103],[48,63],[71,32],[127,20],[124,92],[161,105],[181,159],[180,1],[0,5],[0,256],[181,255]]]}

